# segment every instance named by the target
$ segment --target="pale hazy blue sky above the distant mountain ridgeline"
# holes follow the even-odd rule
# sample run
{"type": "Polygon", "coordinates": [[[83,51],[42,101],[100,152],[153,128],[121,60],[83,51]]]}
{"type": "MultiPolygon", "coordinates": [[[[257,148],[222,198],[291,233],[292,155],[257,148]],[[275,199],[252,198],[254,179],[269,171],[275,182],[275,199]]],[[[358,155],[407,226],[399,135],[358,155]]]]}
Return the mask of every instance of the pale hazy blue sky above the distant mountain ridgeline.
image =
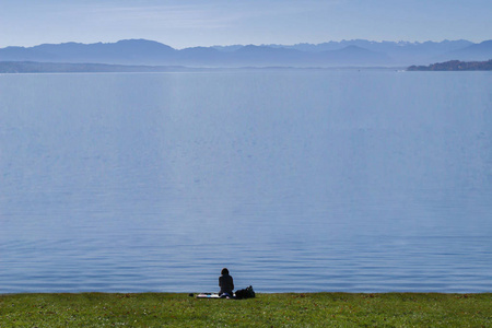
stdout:
{"type": "Polygon", "coordinates": [[[492,38],[492,0],[0,0],[0,47],[492,38]]]}

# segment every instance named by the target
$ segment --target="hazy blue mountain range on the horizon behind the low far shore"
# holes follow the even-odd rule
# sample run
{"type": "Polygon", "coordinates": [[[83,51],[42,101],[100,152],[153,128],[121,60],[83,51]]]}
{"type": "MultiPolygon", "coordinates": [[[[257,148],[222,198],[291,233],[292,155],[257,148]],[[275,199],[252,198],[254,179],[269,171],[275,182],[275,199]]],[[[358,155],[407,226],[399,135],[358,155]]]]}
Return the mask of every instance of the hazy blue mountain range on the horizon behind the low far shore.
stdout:
{"type": "Polygon", "coordinates": [[[468,40],[408,43],[358,39],[317,45],[234,45],[178,50],[157,42],[127,39],[108,44],[66,43],[0,49],[0,61],[189,67],[397,67],[491,58],[492,40],[473,44],[468,40]]]}

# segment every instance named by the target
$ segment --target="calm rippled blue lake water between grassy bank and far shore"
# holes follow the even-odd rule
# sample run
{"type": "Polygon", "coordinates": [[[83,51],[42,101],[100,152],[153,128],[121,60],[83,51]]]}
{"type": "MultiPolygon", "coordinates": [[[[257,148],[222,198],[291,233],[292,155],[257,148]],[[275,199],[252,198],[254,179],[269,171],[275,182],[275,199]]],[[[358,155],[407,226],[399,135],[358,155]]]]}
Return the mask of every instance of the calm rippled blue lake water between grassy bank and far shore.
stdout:
{"type": "Polygon", "coordinates": [[[492,292],[492,74],[0,75],[0,293],[492,292]]]}

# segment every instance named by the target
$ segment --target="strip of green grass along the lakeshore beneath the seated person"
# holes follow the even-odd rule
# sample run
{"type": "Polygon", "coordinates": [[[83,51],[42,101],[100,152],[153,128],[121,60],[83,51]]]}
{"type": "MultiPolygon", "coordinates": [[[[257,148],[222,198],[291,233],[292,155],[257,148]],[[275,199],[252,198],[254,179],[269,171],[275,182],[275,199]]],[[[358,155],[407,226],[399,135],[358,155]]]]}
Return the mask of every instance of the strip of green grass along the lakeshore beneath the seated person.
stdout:
{"type": "Polygon", "coordinates": [[[0,327],[492,327],[492,294],[0,295],[0,327]]]}

